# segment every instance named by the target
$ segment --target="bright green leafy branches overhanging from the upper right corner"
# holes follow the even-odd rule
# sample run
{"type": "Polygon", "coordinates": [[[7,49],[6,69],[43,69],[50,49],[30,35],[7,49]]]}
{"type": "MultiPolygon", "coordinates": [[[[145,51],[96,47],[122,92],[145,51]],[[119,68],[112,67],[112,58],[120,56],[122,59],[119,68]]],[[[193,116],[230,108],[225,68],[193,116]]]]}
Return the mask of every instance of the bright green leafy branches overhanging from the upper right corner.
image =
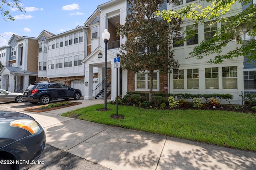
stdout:
{"type": "MultiPolygon", "coordinates": [[[[157,16],[171,21],[173,17],[187,18],[194,20],[194,25],[203,23],[204,20],[214,20],[214,22],[224,23],[211,39],[203,41],[190,52],[191,57],[202,59],[204,56],[216,53],[213,60],[209,63],[221,63],[224,59],[232,59],[234,57],[245,56],[249,62],[256,61],[256,41],[252,39],[244,43],[243,35],[256,36],[256,4],[251,4],[245,10],[241,11],[234,17],[225,18],[223,16],[232,8],[235,2],[243,5],[252,2],[251,0],[202,0],[200,4],[189,4],[185,8],[177,11],[158,11],[157,16]],[[202,8],[200,4],[210,2],[207,7],[202,8]],[[224,55],[220,55],[222,47],[226,47],[228,42],[236,41],[240,47],[229,51],[224,55]]],[[[192,32],[188,32],[192,36],[192,32]]],[[[186,37],[188,39],[190,36],[186,37]]]]}

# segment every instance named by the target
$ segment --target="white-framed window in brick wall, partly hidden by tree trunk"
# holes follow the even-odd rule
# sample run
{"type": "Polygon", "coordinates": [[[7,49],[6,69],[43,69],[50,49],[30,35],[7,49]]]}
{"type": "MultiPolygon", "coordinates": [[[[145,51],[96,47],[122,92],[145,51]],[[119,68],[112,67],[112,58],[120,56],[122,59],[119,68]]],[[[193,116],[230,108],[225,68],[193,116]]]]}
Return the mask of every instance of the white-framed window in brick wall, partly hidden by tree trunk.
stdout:
{"type": "MultiPolygon", "coordinates": [[[[153,73],[153,91],[159,91],[159,72],[153,73]]],[[[135,90],[149,91],[150,76],[145,72],[135,74],[135,90]]]]}

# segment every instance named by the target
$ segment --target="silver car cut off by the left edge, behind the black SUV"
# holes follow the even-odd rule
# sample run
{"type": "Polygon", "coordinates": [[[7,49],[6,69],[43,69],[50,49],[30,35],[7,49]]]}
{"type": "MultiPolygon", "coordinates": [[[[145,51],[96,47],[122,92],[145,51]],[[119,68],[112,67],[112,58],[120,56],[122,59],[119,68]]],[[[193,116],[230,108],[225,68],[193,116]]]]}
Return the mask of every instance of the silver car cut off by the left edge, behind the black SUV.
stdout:
{"type": "Polygon", "coordinates": [[[12,93],[0,89],[0,102],[23,102],[22,93],[12,93]]]}

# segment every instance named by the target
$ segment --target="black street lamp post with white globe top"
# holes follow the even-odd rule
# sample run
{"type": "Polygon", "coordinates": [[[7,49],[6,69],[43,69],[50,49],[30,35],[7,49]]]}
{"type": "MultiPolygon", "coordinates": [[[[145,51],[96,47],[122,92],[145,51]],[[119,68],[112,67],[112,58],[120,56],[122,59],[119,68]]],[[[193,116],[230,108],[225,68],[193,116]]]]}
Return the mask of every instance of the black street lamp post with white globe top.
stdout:
{"type": "Polygon", "coordinates": [[[107,29],[104,29],[102,33],[102,39],[105,43],[105,87],[104,87],[104,109],[107,109],[107,44],[110,38],[110,33],[107,29]]]}

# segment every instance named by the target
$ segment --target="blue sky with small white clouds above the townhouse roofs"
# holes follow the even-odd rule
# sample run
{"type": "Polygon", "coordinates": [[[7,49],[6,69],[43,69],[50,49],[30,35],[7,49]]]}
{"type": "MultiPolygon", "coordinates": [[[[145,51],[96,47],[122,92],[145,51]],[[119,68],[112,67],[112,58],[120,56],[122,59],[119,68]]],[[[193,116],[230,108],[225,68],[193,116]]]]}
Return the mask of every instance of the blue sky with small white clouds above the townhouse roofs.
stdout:
{"type": "Polygon", "coordinates": [[[54,34],[75,29],[97,9],[97,6],[110,0],[20,0],[25,15],[15,8],[2,6],[9,10],[14,21],[0,15],[0,47],[8,45],[13,34],[38,37],[43,31],[54,34]]]}

